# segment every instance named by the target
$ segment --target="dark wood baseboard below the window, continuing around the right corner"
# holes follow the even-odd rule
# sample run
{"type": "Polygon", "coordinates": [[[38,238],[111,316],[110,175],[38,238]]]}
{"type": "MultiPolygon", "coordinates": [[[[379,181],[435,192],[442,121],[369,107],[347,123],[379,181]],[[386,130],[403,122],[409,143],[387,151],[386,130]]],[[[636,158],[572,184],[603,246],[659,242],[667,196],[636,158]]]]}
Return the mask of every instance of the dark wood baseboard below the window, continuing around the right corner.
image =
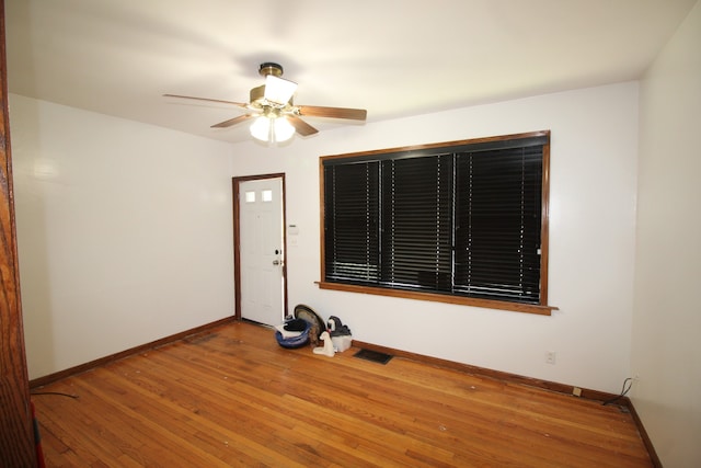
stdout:
{"type": "Polygon", "coordinates": [[[586,388],[582,388],[582,393],[579,397],[574,395],[575,386],[559,384],[554,381],[541,380],[532,377],[524,377],[517,374],[505,373],[501,370],[487,369],[485,367],[473,366],[470,364],[462,364],[455,361],[441,359],[439,357],[425,356],[423,354],[410,353],[407,351],[394,350],[392,347],[380,346],[372,343],[366,343],[363,341],[353,340],[354,347],[360,347],[370,351],[377,351],[379,353],[390,354],[397,357],[403,357],[405,359],[416,361],[426,365],[449,368],[458,372],[462,372],[466,374],[472,374],[480,377],[492,378],[495,380],[499,380],[506,384],[514,385],[522,385],[528,387],[540,388],[543,390],[554,391],[556,393],[572,396],[573,398],[584,398],[587,400],[600,401],[601,404],[606,401],[610,401],[617,399],[617,404],[624,408],[628,412],[630,412],[633,418],[633,422],[637,427],[637,432],[645,444],[645,448],[647,449],[647,454],[650,455],[650,459],[655,468],[662,468],[662,461],[655,452],[655,447],[645,431],[645,426],[643,425],[643,421],[640,419],[637,411],[635,411],[635,407],[633,402],[628,397],[620,397],[618,395],[608,393],[606,391],[599,390],[590,390],[586,388]]]}

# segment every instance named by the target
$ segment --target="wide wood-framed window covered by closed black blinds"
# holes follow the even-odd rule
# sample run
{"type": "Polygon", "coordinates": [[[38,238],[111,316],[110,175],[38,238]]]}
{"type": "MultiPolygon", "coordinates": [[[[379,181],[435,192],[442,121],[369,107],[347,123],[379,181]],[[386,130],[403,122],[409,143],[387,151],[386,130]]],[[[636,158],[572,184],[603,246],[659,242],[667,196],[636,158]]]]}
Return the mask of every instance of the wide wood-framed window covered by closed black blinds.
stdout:
{"type": "Polygon", "coordinates": [[[549,315],[550,133],[321,158],[331,289],[549,315]]]}

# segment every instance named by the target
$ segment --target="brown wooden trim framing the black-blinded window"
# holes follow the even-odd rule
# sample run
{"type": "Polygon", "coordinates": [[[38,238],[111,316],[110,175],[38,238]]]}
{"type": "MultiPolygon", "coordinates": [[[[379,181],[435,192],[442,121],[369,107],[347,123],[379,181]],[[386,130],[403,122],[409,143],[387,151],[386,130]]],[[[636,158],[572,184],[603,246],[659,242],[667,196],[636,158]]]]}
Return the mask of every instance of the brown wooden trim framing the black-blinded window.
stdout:
{"type": "Polygon", "coordinates": [[[363,151],[355,153],[346,153],[346,155],[333,155],[333,156],[323,156],[319,160],[319,170],[320,170],[320,213],[321,213],[321,224],[320,224],[320,248],[321,248],[321,281],[317,284],[322,289],[332,289],[332,290],[345,290],[353,293],[363,293],[363,294],[372,294],[372,295],[381,295],[381,296],[391,296],[391,297],[402,297],[410,299],[418,299],[418,300],[430,300],[430,301],[439,301],[446,304],[457,304],[457,305],[466,305],[473,307],[482,307],[482,308],[491,308],[491,309],[501,309],[501,310],[512,310],[512,311],[520,311],[527,313],[537,313],[537,315],[551,315],[552,310],[556,310],[556,307],[548,305],[548,260],[549,260],[549,185],[550,185],[550,132],[532,132],[525,134],[515,134],[515,135],[505,135],[505,136],[496,136],[496,137],[486,137],[486,138],[476,138],[470,140],[458,140],[458,141],[447,141],[439,144],[430,144],[430,145],[417,145],[411,147],[401,147],[401,148],[390,148],[390,149],[381,149],[381,150],[372,150],[372,151],[363,151]],[[502,301],[502,300],[492,300],[492,299],[482,299],[482,298],[472,298],[464,296],[453,296],[448,294],[437,294],[437,293],[427,293],[427,292],[415,292],[415,290],[404,290],[404,289],[392,289],[384,287],[372,287],[368,285],[354,285],[346,283],[336,283],[336,282],[326,282],[324,278],[325,274],[325,232],[324,232],[324,161],[333,160],[333,159],[371,159],[374,157],[381,157],[384,153],[398,153],[398,152],[426,152],[426,151],[435,151],[444,148],[453,148],[466,145],[475,145],[475,144],[493,144],[498,141],[514,140],[514,139],[526,139],[526,138],[537,138],[537,137],[547,137],[548,142],[543,146],[543,160],[542,160],[542,197],[541,197],[541,265],[540,265],[540,300],[539,304],[521,304],[521,303],[512,303],[512,301],[502,301]]]}

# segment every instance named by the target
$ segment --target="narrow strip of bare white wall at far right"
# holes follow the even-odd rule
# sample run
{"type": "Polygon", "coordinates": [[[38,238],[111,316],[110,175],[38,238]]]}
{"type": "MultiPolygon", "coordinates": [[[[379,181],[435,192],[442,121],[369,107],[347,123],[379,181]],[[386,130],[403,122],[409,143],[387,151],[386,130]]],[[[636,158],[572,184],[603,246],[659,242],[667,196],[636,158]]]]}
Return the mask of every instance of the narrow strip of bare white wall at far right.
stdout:
{"type": "Polygon", "coordinates": [[[701,3],[641,82],[632,400],[665,467],[701,466],[701,3]]]}

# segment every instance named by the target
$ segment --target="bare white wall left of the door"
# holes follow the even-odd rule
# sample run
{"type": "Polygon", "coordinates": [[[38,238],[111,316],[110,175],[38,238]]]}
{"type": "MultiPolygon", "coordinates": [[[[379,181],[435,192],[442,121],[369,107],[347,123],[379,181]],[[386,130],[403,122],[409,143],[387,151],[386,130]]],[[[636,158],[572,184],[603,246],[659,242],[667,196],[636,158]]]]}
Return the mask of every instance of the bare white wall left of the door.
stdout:
{"type": "Polygon", "coordinates": [[[231,146],[10,95],[30,378],[233,313],[231,146]]]}

